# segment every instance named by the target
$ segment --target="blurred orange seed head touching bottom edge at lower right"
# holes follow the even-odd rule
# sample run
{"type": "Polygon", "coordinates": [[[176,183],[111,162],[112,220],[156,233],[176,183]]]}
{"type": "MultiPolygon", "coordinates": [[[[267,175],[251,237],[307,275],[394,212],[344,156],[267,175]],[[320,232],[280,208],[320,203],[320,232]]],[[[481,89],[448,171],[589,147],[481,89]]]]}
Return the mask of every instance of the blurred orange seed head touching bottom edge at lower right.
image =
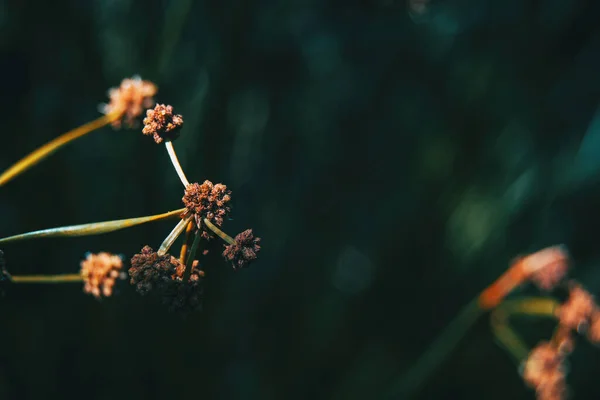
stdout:
{"type": "Polygon", "coordinates": [[[523,380],[535,389],[538,400],[560,400],[567,393],[565,355],[550,342],[537,345],[523,365],[523,380]]]}

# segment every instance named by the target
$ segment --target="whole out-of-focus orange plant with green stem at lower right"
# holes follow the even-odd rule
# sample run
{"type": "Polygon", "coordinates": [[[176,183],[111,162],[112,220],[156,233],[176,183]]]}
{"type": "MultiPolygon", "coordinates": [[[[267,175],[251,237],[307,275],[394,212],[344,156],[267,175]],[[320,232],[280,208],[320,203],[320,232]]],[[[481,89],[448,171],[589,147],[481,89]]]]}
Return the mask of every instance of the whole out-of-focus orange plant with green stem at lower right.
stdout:
{"type": "Polygon", "coordinates": [[[490,313],[494,336],[518,363],[524,383],[535,390],[537,398],[567,398],[567,369],[564,366],[575,349],[577,336],[600,344],[600,307],[579,283],[566,280],[568,269],[569,256],[564,246],[549,247],[517,258],[504,274],[465,306],[410,370],[393,382],[390,398],[415,396],[466,331],[486,313],[490,313]],[[508,299],[516,288],[527,282],[546,294],[566,289],[568,297],[562,303],[547,295],[508,299]],[[523,317],[555,320],[554,334],[531,349],[510,324],[512,318],[523,317]]]}

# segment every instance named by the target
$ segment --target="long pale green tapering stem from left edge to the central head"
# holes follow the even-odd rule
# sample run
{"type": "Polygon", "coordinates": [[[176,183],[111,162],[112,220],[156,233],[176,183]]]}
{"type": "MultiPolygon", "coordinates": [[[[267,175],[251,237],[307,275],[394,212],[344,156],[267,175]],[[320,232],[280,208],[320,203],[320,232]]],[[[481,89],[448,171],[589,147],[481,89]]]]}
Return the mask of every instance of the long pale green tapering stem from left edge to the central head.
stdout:
{"type": "Polygon", "coordinates": [[[150,215],[147,217],[139,217],[139,218],[127,218],[120,219],[115,221],[105,221],[105,222],[94,222],[90,224],[83,225],[71,225],[71,226],[62,226],[59,228],[50,228],[44,229],[40,231],[22,233],[20,235],[9,236],[6,238],[0,239],[0,244],[4,244],[7,242],[14,242],[17,240],[28,240],[28,239],[36,239],[36,238],[49,238],[49,237],[74,237],[74,236],[93,236],[100,235],[103,233],[109,233],[118,231],[125,228],[130,228],[136,225],[145,224],[153,221],[160,221],[163,219],[175,217],[181,215],[181,213],[185,211],[185,208],[181,208],[179,210],[169,211],[163,214],[150,215]]]}

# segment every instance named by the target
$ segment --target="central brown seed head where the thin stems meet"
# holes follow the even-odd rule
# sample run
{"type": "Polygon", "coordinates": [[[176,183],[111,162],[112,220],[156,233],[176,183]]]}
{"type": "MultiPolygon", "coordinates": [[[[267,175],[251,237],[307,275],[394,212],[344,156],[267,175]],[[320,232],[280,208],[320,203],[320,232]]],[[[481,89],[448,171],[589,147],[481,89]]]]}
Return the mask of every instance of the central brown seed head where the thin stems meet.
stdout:
{"type": "MultiPolygon", "coordinates": [[[[204,226],[202,220],[208,219],[217,226],[223,224],[223,218],[231,211],[229,202],[231,200],[231,190],[227,186],[211,181],[204,181],[202,185],[192,183],[185,188],[183,195],[183,204],[187,211],[193,213],[196,219],[196,226],[204,226]]],[[[202,235],[208,238],[208,233],[203,231],[202,235]]]]}

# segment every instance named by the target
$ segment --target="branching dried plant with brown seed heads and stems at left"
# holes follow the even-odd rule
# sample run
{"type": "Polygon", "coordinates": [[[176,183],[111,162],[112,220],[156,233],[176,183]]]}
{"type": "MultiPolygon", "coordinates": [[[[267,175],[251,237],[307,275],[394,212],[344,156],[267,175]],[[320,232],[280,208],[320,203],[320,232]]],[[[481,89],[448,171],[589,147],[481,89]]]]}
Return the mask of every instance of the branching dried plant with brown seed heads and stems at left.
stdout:
{"type": "MultiPolygon", "coordinates": [[[[93,129],[107,124],[112,124],[115,128],[120,128],[122,125],[135,126],[143,108],[152,106],[152,97],[155,93],[156,86],[142,81],[139,77],[123,80],[119,88],[109,91],[110,103],[101,108],[106,114],[104,117],[36,150],[5,172],[0,177],[0,186],[41,161],[60,146],[93,129]]],[[[179,137],[183,117],[175,114],[172,106],[156,104],[154,108],[146,111],[143,122],[142,133],[151,136],[157,144],[165,144],[173,167],[184,186],[182,198],[184,207],[150,216],[27,232],[1,238],[0,245],[35,238],[99,235],[148,222],[178,218],[179,222],[162,241],[157,251],[150,246],[144,246],[140,253],[131,258],[131,267],[128,269],[129,282],[142,295],[148,293],[158,295],[171,310],[181,312],[198,310],[201,306],[202,283],[205,276],[199,260],[196,259],[200,243],[215,236],[221,238],[225,242],[223,257],[232,263],[235,270],[248,266],[258,257],[260,238],[254,237],[251,229],[238,234],[235,239],[221,230],[224,218],[231,211],[231,191],[227,186],[221,183],[213,184],[208,180],[203,184],[190,184],[187,180],[172,144],[173,140],[179,137]],[[173,243],[184,233],[185,239],[179,257],[170,255],[168,252],[173,243]]],[[[206,253],[206,249],[203,253],[206,253]]],[[[0,251],[0,283],[83,282],[83,291],[96,298],[111,296],[117,281],[126,278],[124,270],[121,256],[101,252],[88,254],[81,262],[81,270],[77,274],[11,276],[6,271],[4,254],[0,251]]]]}

